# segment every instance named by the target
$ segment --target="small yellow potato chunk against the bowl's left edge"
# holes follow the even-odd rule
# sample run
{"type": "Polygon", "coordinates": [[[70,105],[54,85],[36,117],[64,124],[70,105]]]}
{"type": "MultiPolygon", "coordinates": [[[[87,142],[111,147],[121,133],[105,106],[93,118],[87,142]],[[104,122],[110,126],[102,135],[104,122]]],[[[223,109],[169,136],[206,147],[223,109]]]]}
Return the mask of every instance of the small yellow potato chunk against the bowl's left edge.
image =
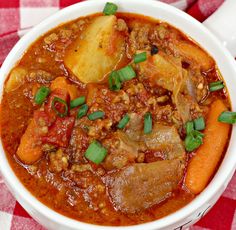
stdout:
{"type": "Polygon", "coordinates": [[[25,68],[15,67],[6,82],[5,91],[8,93],[19,88],[24,83],[27,73],[25,68]]]}

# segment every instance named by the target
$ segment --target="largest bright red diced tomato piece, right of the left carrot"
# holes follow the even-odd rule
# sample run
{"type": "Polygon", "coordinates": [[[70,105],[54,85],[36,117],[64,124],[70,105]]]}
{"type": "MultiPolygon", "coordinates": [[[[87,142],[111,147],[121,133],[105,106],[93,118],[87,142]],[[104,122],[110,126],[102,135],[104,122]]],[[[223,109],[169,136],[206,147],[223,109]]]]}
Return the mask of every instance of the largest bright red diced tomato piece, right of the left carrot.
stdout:
{"type": "Polygon", "coordinates": [[[47,135],[41,138],[42,142],[58,147],[67,147],[69,145],[74,123],[74,117],[57,117],[54,124],[49,127],[47,135]]]}

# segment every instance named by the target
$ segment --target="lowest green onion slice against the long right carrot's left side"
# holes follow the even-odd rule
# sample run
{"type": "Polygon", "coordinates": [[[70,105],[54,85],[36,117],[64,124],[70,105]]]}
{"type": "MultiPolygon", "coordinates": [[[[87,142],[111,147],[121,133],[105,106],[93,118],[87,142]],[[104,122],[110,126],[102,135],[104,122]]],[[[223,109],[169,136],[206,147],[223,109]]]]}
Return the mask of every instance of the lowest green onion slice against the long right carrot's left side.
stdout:
{"type": "Polygon", "coordinates": [[[204,134],[197,130],[190,132],[184,140],[185,149],[188,152],[192,152],[193,150],[197,149],[203,143],[203,136],[204,134]]]}

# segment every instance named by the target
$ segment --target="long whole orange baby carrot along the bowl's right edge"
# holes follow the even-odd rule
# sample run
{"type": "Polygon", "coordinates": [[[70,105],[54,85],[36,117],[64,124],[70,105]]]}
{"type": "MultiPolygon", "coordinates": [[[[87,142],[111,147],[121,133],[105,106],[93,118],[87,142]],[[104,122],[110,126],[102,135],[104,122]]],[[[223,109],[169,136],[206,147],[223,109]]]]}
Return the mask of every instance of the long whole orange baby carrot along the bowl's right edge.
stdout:
{"type": "Polygon", "coordinates": [[[228,141],[230,125],[218,122],[219,115],[227,110],[221,100],[215,101],[209,111],[203,144],[190,160],[185,185],[194,194],[200,193],[213,176],[228,141]]]}

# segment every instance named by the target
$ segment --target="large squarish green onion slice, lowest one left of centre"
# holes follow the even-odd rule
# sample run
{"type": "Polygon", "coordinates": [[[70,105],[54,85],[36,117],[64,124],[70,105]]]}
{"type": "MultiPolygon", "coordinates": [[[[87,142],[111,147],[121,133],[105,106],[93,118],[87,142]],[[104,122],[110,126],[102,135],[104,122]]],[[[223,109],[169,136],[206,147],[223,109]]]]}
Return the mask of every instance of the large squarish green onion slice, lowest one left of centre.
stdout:
{"type": "Polygon", "coordinates": [[[85,157],[95,164],[100,164],[106,155],[107,150],[98,141],[93,141],[85,152],[85,157]]]}

